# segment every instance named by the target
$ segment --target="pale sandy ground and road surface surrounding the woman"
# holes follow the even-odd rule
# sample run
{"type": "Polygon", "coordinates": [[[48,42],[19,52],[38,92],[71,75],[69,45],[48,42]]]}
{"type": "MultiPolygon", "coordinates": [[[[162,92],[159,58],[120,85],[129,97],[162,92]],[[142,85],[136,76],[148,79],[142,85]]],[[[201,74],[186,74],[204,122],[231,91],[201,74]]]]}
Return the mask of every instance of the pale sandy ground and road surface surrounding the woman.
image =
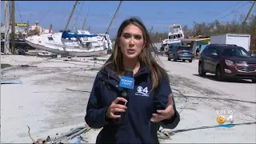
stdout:
{"type": "MultiPolygon", "coordinates": [[[[27,126],[30,126],[34,139],[46,139],[48,135],[54,138],[84,125],[90,94],[67,89],[90,91],[98,68],[104,63],[102,59],[106,58],[53,59],[2,55],[1,63],[14,66],[2,70],[2,79],[19,78],[23,83],[1,85],[1,142],[32,142],[27,126]]],[[[225,116],[232,112],[234,123],[255,122],[254,83],[217,82],[212,75],[201,78],[198,76],[197,61],[170,62],[166,57],[160,59],[169,70],[171,87],[181,115],[181,122],[171,130],[173,135],[170,139],[160,138],[161,143],[256,141],[255,124],[230,129],[200,129],[201,126],[217,125],[217,110],[225,110],[225,116]],[[186,130],[190,128],[197,130],[186,130]],[[175,130],[185,131],[174,133],[175,130]]],[[[86,142],[94,143],[98,132],[90,130],[82,135],[86,137],[86,142]]]]}

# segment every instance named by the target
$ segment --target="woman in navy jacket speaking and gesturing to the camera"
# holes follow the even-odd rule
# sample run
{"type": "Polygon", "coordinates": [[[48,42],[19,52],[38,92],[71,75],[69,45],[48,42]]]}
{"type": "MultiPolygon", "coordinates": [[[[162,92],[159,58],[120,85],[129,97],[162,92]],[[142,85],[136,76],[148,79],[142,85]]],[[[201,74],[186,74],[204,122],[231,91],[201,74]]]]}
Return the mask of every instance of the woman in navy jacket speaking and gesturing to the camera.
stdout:
{"type": "Polygon", "coordinates": [[[169,77],[154,58],[152,47],[138,18],[122,22],[113,54],[99,70],[86,108],[88,126],[103,127],[96,143],[159,143],[159,125],[170,129],[178,125],[169,77]],[[125,70],[134,71],[134,89],[128,90],[128,99],[118,97],[125,70]],[[120,117],[116,112],[126,112],[121,125],[114,121],[120,117]]]}

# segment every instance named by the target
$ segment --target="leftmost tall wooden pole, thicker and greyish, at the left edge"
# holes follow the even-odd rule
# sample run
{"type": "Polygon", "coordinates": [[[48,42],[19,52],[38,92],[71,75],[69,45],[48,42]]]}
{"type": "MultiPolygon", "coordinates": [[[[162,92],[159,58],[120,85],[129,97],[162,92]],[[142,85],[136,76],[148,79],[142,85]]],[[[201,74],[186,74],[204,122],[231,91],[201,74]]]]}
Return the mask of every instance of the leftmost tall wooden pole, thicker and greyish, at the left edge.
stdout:
{"type": "Polygon", "coordinates": [[[9,1],[5,1],[5,46],[4,54],[10,53],[10,6],[9,1]]]}

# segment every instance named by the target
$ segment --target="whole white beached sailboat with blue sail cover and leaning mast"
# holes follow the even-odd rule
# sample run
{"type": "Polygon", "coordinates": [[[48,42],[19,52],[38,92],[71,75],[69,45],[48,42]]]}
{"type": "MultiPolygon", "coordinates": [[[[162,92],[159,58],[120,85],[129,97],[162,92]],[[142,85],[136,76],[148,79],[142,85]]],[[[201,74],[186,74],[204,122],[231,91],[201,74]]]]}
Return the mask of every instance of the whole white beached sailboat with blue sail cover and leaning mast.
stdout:
{"type": "MultiPolygon", "coordinates": [[[[70,18],[77,4],[78,1],[74,4],[70,18]]],[[[93,56],[112,49],[110,35],[107,32],[103,35],[90,34],[88,30],[78,30],[76,33],[67,32],[70,18],[63,32],[30,35],[25,38],[25,42],[39,50],[77,57],[93,56]]]]}

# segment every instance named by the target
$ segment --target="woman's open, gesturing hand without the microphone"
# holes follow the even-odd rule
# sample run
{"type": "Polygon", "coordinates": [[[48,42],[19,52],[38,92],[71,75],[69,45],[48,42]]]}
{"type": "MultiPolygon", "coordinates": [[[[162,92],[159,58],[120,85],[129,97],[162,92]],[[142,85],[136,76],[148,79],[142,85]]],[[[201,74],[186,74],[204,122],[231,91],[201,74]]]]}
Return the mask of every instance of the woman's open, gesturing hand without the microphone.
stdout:
{"type": "Polygon", "coordinates": [[[157,110],[158,114],[152,114],[151,122],[160,122],[164,119],[170,119],[174,116],[174,103],[173,95],[170,94],[168,97],[168,105],[165,110],[157,110]]]}

